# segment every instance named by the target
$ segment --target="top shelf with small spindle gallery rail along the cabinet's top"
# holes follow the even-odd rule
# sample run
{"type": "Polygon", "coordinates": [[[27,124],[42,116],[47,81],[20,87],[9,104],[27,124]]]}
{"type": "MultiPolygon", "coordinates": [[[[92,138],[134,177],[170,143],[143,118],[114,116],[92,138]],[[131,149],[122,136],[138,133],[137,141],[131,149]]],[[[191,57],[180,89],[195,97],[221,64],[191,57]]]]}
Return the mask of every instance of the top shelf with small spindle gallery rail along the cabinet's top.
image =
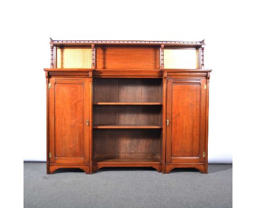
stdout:
{"type": "Polygon", "coordinates": [[[91,45],[91,44],[107,44],[107,45],[162,45],[165,46],[202,46],[205,40],[201,41],[152,41],[152,40],[53,40],[50,38],[50,44],[53,45],[91,45]]]}

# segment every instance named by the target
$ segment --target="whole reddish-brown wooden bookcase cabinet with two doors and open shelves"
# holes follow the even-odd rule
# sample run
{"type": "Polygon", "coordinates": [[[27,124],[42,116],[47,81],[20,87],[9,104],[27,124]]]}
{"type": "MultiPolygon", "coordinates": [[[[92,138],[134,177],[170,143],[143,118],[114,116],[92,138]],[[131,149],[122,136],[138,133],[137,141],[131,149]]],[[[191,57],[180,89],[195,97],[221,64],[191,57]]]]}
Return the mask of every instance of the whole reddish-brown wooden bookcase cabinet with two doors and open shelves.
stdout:
{"type": "Polygon", "coordinates": [[[204,41],[52,40],[47,173],[153,167],[207,173],[204,41]],[[179,68],[180,67],[180,68],[179,68]]]}

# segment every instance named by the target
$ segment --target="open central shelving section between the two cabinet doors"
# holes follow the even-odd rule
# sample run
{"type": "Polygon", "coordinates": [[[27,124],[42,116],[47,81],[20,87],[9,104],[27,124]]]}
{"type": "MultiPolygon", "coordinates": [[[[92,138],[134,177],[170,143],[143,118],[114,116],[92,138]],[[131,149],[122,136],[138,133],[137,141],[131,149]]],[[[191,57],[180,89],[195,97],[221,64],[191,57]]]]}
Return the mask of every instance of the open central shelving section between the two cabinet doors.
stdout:
{"type": "Polygon", "coordinates": [[[162,79],[95,78],[93,90],[96,169],[161,164],[162,79]]]}

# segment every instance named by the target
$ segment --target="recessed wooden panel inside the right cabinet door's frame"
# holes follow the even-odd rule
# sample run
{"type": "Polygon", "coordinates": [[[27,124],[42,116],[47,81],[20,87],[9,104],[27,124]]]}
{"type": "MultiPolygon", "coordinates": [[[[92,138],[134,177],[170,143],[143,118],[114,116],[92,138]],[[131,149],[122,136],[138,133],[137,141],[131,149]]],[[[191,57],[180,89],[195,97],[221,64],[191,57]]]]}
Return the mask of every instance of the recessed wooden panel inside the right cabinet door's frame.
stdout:
{"type": "Polygon", "coordinates": [[[172,157],[199,156],[200,93],[200,84],[173,84],[172,157]]]}

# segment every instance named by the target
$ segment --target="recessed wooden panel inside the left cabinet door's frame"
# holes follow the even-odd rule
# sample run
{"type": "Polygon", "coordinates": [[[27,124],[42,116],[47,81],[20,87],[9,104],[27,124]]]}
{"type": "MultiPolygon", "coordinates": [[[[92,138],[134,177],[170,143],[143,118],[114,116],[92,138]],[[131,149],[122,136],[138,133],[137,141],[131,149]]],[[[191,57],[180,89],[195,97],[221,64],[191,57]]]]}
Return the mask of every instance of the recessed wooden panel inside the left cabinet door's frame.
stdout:
{"type": "Polygon", "coordinates": [[[83,85],[55,84],[55,156],[83,157],[83,85]]]}

